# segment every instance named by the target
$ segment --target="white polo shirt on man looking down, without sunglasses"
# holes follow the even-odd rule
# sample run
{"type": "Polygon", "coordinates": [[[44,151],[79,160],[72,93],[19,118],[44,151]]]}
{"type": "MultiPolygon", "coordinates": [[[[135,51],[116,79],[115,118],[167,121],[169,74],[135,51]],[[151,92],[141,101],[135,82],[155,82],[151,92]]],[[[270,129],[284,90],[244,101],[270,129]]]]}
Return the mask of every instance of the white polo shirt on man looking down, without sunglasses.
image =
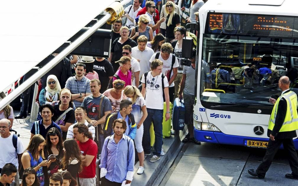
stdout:
{"type": "Polygon", "coordinates": [[[141,81],[142,75],[150,71],[150,58],[154,54],[154,51],[146,46],[144,51],[140,51],[138,46],[135,46],[134,48],[131,49],[131,56],[134,57],[135,59],[140,60],[140,77],[139,80],[141,81]]]}

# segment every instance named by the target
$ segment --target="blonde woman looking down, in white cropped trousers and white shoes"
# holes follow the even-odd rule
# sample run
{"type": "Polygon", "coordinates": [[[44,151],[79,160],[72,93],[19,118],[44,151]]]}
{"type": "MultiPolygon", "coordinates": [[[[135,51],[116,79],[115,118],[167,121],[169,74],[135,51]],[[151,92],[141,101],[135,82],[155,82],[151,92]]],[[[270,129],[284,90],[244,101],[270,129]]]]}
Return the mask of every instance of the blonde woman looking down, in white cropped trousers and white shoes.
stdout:
{"type": "Polygon", "coordinates": [[[144,133],[143,122],[147,118],[147,108],[146,102],[143,98],[139,89],[135,86],[128,85],[124,89],[124,94],[132,101],[132,114],[134,115],[134,120],[136,121],[136,137],[134,142],[136,144],[136,151],[138,152],[139,157],[139,169],[137,174],[142,174],[144,172],[144,149],[142,147],[142,139],[144,133]]]}

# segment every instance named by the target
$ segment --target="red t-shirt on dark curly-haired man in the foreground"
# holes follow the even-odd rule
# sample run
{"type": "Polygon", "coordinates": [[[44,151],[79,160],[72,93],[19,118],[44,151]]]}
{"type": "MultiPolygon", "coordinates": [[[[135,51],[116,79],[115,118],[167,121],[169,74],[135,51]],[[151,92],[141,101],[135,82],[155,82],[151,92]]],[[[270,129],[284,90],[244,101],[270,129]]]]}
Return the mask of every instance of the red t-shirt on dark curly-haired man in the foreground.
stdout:
{"type": "Polygon", "coordinates": [[[97,144],[89,139],[85,143],[77,141],[77,144],[80,147],[81,154],[83,156],[91,155],[94,156],[92,162],[88,167],[83,166],[83,171],[79,173],[80,178],[94,178],[95,177],[95,168],[96,168],[96,157],[97,157],[97,144]]]}

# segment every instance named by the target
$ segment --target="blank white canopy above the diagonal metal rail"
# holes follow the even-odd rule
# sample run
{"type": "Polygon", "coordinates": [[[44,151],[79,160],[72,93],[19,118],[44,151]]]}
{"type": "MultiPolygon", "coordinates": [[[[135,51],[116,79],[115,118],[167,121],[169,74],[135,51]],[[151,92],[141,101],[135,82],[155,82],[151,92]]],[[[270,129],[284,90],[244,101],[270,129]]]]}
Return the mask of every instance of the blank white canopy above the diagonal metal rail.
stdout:
{"type": "Polygon", "coordinates": [[[113,2],[1,1],[0,91],[26,74],[113,2]]]}

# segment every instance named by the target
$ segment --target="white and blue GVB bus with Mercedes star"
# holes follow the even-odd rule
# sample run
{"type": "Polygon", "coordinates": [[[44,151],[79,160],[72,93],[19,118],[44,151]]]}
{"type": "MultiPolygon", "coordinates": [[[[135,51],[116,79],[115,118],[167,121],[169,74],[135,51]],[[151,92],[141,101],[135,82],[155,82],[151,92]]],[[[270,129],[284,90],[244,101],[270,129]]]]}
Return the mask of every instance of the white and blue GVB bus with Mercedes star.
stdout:
{"type": "MultiPolygon", "coordinates": [[[[297,5],[297,0],[209,0],[201,7],[193,114],[196,140],[267,146],[273,108],[268,100],[280,96],[278,79],[286,71],[291,81],[297,78],[297,5]],[[212,79],[201,73],[202,60],[209,64],[212,79]],[[250,65],[254,71],[244,78],[250,65]]],[[[294,144],[298,148],[296,138],[294,144]]]]}

